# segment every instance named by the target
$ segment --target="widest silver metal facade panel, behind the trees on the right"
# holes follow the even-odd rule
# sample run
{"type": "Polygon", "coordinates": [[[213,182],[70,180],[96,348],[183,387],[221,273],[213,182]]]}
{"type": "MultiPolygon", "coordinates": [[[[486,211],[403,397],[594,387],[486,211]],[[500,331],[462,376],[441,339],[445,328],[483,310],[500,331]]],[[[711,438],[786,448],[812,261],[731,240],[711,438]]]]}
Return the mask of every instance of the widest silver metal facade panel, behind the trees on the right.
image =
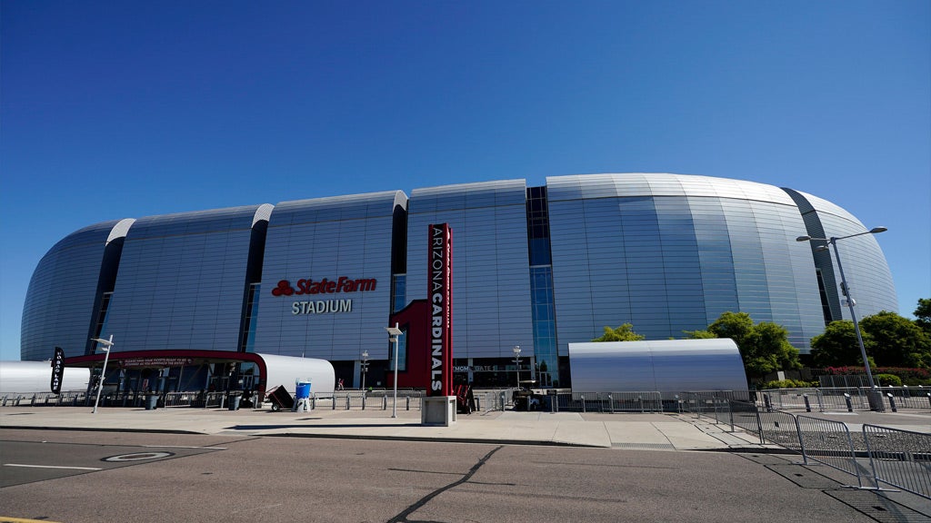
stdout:
{"type": "Polygon", "coordinates": [[[560,354],[605,326],[648,340],[705,329],[725,311],[823,330],[802,217],[770,185],[680,175],[547,178],[560,354]]]}

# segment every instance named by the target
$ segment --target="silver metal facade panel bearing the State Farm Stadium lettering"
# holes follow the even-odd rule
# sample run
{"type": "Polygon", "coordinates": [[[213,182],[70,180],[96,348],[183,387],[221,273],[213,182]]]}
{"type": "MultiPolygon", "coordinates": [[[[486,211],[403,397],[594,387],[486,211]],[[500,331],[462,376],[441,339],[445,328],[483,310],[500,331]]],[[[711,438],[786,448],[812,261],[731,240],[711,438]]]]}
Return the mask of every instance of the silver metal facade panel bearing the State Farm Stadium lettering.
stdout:
{"type": "Polygon", "coordinates": [[[387,359],[392,219],[395,207],[405,205],[399,191],[278,204],[265,240],[255,352],[355,360],[369,351],[371,359],[387,359]],[[296,286],[301,279],[340,277],[375,280],[374,288],[273,294],[280,281],[296,286]],[[334,312],[329,305],[333,301],[343,308],[334,312]],[[345,310],[346,301],[351,310],[345,310]],[[295,302],[302,303],[297,313],[295,302]],[[319,311],[317,302],[327,308],[319,311]]]}

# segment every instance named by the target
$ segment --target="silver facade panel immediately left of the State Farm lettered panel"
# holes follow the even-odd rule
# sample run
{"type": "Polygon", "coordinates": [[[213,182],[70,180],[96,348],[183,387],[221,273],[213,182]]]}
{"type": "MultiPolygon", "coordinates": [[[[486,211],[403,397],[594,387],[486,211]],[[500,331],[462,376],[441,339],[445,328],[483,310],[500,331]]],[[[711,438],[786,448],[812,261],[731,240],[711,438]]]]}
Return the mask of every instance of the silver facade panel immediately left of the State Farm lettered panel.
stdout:
{"type": "Polygon", "coordinates": [[[236,351],[260,206],[152,216],[129,229],[107,332],[115,351],[236,351]]]}

